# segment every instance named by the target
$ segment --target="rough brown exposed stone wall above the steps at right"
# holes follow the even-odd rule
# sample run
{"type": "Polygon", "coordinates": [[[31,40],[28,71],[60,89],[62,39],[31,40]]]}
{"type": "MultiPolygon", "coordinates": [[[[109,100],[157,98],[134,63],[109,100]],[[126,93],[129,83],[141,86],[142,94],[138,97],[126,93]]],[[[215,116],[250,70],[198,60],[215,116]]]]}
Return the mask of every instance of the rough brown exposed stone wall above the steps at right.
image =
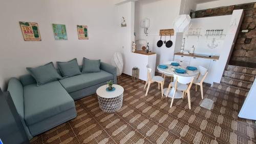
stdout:
{"type": "Polygon", "coordinates": [[[256,3],[199,10],[196,11],[196,17],[229,15],[236,9],[244,9],[245,16],[231,60],[256,63],[256,3]],[[249,31],[242,33],[242,30],[249,31]]]}

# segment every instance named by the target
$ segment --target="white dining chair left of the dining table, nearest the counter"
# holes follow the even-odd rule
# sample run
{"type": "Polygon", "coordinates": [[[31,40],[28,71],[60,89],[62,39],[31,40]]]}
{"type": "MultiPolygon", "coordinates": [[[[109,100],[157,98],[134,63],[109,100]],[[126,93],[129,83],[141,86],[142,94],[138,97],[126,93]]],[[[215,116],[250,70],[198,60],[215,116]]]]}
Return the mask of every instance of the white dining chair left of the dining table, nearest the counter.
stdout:
{"type": "Polygon", "coordinates": [[[146,84],[144,87],[144,89],[145,89],[146,85],[147,85],[146,95],[148,93],[148,90],[150,89],[150,85],[154,82],[157,82],[158,89],[160,89],[160,85],[161,85],[161,92],[162,92],[162,96],[163,96],[163,78],[161,76],[152,76],[151,71],[152,71],[152,69],[147,67],[147,81],[146,81],[146,84]]]}

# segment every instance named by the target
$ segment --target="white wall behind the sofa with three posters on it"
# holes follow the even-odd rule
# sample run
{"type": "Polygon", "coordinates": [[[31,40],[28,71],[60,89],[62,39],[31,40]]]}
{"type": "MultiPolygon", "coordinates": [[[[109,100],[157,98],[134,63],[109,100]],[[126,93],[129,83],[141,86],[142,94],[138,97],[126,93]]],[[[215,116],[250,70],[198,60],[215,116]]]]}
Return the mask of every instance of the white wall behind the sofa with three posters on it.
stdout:
{"type": "Polygon", "coordinates": [[[118,42],[117,6],[104,0],[2,1],[0,5],[0,87],[27,73],[26,67],[82,57],[110,62],[118,42]],[[41,42],[25,42],[19,21],[39,25],[41,42]],[[68,40],[55,40],[52,24],[65,24],[68,40]],[[78,40],[76,25],[88,25],[89,40],[78,40]]]}

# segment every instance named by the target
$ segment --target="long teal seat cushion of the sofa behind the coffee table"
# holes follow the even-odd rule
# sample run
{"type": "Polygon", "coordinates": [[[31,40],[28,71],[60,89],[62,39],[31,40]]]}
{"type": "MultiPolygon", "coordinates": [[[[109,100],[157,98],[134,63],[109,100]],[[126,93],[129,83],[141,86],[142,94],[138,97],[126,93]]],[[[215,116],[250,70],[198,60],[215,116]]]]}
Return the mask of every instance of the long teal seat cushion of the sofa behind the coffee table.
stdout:
{"type": "Polygon", "coordinates": [[[59,80],[61,85],[69,92],[78,91],[113,79],[111,73],[100,70],[95,73],[85,73],[59,80]]]}

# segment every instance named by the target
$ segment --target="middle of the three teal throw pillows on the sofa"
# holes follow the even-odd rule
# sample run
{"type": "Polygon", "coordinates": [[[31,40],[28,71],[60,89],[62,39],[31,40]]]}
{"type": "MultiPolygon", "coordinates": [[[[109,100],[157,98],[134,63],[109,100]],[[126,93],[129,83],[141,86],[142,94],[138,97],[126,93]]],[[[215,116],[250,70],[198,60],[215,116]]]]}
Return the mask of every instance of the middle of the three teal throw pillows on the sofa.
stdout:
{"type": "Polygon", "coordinates": [[[81,74],[76,58],[68,62],[57,61],[57,66],[63,77],[70,77],[81,74]]]}

